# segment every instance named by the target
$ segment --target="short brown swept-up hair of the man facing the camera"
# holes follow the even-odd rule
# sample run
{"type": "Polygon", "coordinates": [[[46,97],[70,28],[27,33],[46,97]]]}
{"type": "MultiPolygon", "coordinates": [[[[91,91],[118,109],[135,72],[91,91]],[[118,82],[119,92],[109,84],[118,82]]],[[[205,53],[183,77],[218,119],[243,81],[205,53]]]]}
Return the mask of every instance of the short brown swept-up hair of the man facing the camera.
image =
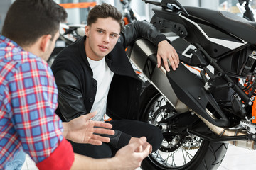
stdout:
{"type": "Polygon", "coordinates": [[[106,3],[96,5],[90,10],[87,18],[87,25],[91,26],[92,23],[96,23],[97,18],[108,17],[116,20],[120,24],[120,30],[122,30],[122,28],[124,27],[124,22],[122,21],[122,13],[120,13],[114,6],[106,3]]]}

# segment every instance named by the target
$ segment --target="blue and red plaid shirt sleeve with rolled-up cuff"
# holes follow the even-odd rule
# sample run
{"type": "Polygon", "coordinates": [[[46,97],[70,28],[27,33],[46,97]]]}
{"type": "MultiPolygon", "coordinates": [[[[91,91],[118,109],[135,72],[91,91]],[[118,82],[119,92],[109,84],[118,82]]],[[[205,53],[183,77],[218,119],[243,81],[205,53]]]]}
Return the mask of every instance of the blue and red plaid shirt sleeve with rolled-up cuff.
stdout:
{"type": "Polygon", "coordinates": [[[9,79],[12,122],[23,150],[42,162],[63,140],[62,122],[55,115],[58,90],[46,62],[36,57],[23,62],[9,79]]]}

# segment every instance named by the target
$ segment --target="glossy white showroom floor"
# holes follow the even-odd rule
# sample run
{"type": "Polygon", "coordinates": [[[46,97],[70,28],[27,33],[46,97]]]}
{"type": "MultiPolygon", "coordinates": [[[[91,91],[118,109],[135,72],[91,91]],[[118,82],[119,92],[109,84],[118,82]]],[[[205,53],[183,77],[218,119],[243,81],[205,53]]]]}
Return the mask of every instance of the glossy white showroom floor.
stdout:
{"type": "MultiPolygon", "coordinates": [[[[228,152],[218,170],[255,170],[255,159],[256,151],[250,151],[229,145],[228,152]]],[[[22,170],[37,170],[35,163],[30,159],[30,157],[28,157],[28,155],[26,163],[23,164],[22,170]]]]}

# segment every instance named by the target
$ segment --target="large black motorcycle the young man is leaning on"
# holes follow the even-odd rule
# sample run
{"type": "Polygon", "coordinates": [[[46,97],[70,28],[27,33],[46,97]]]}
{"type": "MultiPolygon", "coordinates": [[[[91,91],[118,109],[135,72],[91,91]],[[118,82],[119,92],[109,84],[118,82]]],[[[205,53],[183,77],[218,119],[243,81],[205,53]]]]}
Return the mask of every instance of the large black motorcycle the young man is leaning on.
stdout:
{"type": "Polygon", "coordinates": [[[166,72],[148,40],[127,49],[150,82],[139,120],[164,136],[142,169],[218,169],[228,145],[255,150],[256,23],[177,0],[142,1],[157,6],[151,23],[168,35],[181,60],[166,72]]]}

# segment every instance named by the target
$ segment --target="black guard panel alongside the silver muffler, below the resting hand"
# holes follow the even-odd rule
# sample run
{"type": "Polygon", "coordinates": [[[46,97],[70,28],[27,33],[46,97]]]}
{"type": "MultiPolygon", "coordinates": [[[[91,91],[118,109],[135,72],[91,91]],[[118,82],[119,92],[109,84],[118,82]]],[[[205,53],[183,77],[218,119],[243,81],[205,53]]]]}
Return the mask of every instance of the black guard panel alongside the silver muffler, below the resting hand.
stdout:
{"type": "Polygon", "coordinates": [[[174,89],[174,92],[179,100],[185,103],[188,108],[201,115],[213,125],[219,127],[227,127],[230,125],[228,118],[218,106],[218,103],[213,98],[212,94],[205,91],[204,84],[195,74],[183,65],[179,64],[176,71],[171,70],[166,72],[166,76],[174,89]],[[213,119],[207,112],[206,108],[210,104],[218,113],[218,119],[213,119]]]}

